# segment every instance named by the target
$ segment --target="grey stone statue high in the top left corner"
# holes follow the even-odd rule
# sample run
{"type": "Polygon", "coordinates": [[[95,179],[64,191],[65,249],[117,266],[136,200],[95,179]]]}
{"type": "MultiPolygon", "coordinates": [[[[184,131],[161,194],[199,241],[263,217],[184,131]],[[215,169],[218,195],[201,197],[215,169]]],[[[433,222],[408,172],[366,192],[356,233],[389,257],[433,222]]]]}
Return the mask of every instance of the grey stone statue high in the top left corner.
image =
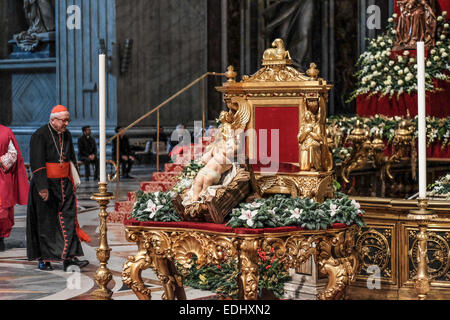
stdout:
{"type": "Polygon", "coordinates": [[[55,31],[55,5],[52,0],[24,0],[23,9],[29,34],[55,31]]]}

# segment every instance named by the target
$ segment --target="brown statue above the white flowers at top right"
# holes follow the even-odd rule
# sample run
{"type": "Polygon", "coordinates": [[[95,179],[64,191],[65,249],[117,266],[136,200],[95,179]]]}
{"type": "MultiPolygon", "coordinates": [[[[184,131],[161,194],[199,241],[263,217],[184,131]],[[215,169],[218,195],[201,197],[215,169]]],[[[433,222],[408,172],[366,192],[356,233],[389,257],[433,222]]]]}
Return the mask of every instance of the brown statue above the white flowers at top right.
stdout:
{"type": "Polygon", "coordinates": [[[400,17],[397,26],[396,49],[415,49],[418,41],[435,45],[436,13],[428,0],[398,1],[400,17]]]}

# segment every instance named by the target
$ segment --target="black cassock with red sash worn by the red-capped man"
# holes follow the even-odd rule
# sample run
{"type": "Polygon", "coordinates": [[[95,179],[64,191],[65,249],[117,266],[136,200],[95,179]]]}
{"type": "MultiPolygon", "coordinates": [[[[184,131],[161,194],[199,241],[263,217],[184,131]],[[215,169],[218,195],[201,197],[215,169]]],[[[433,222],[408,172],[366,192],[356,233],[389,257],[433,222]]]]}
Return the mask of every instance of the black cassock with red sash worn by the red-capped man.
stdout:
{"type": "Polygon", "coordinates": [[[65,174],[70,172],[70,161],[77,163],[72,135],[69,131],[58,135],[50,125],[43,126],[31,137],[30,160],[33,177],[27,212],[28,259],[61,261],[83,256],[76,232],[73,182],[69,174],[65,174]],[[46,202],[39,195],[44,189],[49,191],[46,202]]]}

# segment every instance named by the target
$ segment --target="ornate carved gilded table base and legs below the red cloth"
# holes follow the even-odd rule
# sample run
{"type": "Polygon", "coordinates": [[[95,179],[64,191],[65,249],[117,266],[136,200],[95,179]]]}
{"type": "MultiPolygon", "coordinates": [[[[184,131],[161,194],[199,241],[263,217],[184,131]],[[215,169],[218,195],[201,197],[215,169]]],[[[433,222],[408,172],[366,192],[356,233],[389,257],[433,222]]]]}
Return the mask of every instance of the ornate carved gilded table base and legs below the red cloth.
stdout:
{"type": "Polygon", "coordinates": [[[128,241],[135,242],[138,252],[123,266],[123,283],[140,300],[151,300],[151,291],[141,273],[154,268],[164,287],[164,300],[185,300],[183,279],[175,268],[190,266],[197,257],[199,267],[217,265],[238,259],[240,270],[239,299],[258,297],[258,249],[274,254],[285,268],[298,268],[314,257],[319,272],[328,276],[328,285],[318,294],[320,300],[343,299],[347,286],[359,272],[359,254],[355,250],[355,236],[359,228],[293,231],[261,234],[237,234],[201,230],[201,228],[169,228],[127,226],[128,241]]]}

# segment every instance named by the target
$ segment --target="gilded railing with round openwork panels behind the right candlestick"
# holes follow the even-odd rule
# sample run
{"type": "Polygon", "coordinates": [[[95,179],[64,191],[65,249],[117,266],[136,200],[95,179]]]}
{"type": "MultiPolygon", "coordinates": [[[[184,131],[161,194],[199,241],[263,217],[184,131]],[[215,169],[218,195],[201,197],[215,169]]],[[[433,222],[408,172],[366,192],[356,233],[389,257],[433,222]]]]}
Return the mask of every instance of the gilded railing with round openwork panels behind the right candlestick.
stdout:
{"type": "MultiPolygon", "coordinates": [[[[418,224],[407,219],[416,201],[355,198],[365,210],[367,227],[356,236],[361,271],[349,289],[350,299],[416,299],[418,224]]],[[[450,297],[450,201],[430,200],[439,218],[428,226],[427,299],[450,297]]]]}

